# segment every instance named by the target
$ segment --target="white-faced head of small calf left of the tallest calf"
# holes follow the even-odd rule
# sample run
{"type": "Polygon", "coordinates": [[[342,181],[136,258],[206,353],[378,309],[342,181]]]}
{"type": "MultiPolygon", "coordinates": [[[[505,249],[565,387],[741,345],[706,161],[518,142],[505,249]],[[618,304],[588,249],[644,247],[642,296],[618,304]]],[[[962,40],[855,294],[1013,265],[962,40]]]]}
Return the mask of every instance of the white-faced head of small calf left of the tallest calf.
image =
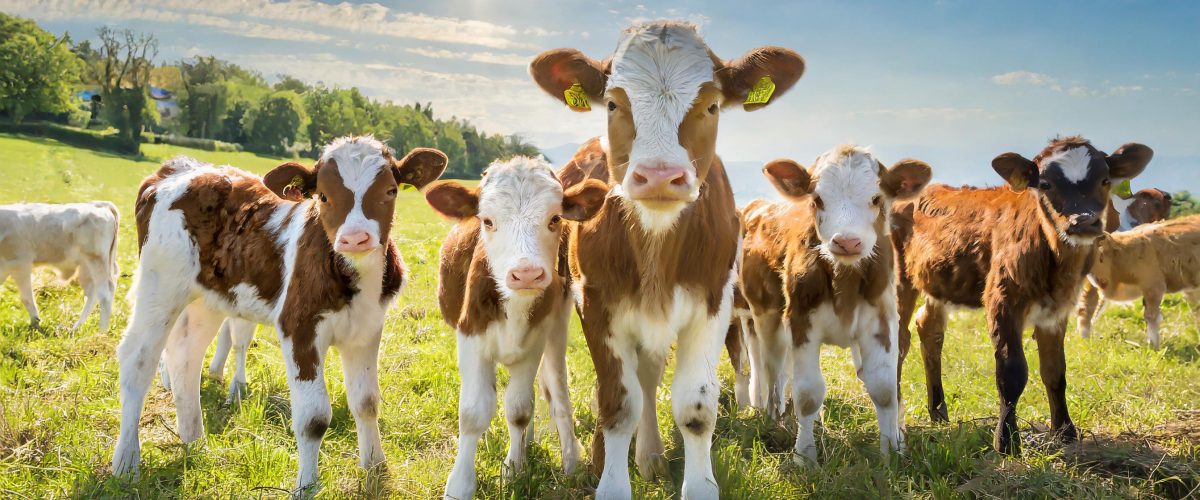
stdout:
{"type": "Polygon", "coordinates": [[[565,192],[550,163],[528,157],[494,162],[479,187],[442,181],[425,192],[433,210],[454,218],[478,217],[487,264],[503,296],[536,294],[551,282],[562,221],[587,221],[608,188],[587,180],[565,192]]]}

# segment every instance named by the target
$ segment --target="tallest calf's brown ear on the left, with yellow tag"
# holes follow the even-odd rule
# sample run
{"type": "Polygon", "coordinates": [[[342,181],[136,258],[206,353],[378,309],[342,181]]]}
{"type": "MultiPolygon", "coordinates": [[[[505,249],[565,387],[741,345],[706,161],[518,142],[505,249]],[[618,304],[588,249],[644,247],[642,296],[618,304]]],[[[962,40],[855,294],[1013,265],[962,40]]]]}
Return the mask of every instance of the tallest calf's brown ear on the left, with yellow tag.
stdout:
{"type": "MultiPolygon", "coordinates": [[[[538,54],[529,64],[529,76],[541,90],[566,104],[563,92],[576,83],[592,102],[604,101],[608,84],[607,61],[600,62],[576,49],[553,49],[538,54]]],[[[584,112],[587,109],[576,109],[584,112]]]]}

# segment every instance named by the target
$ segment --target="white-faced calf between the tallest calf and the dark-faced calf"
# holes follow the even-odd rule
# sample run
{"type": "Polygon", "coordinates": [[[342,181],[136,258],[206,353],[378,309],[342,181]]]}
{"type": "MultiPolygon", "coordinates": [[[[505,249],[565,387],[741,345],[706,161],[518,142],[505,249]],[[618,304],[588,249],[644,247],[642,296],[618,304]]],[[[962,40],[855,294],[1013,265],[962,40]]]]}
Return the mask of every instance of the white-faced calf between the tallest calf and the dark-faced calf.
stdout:
{"type": "Polygon", "coordinates": [[[791,379],[797,458],[816,460],[812,429],[826,392],[821,347],[850,348],[875,403],[880,451],[902,451],[888,218],[892,203],[920,193],[932,170],[916,159],[886,168],[869,151],[844,145],[808,169],[776,159],[763,174],[785,201],[757,200],[744,212],[740,284],[758,342],[755,400],[781,417],[791,379]]]}

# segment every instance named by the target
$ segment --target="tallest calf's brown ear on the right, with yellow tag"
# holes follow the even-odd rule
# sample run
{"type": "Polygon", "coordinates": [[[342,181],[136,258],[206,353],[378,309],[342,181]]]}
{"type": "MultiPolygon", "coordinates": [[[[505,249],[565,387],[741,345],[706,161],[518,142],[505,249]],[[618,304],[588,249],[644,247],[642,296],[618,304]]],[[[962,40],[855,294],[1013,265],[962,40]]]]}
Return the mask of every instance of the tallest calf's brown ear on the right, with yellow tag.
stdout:
{"type": "Polygon", "coordinates": [[[725,67],[716,71],[716,78],[721,82],[721,91],[725,94],[725,106],[742,104],[748,112],[762,108],[774,102],[779,96],[787,92],[796,82],[804,74],[804,58],[792,49],[782,47],[760,47],[745,53],[745,55],[728,61],[725,67]],[[770,77],[775,84],[775,91],[770,101],[758,104],[745,104],[746,96],[750,95],[758,80],[770,77]]]}

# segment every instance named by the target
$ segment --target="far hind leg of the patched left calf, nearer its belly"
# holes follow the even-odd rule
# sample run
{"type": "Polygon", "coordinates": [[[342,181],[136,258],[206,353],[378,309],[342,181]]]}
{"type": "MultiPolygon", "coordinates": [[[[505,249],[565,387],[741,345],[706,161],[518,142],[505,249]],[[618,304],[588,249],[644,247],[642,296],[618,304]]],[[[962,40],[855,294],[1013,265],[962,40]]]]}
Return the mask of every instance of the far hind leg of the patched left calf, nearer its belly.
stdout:
{"type": "Polygon", "coordinates": [[[184,444],[204,436],[200,372],[204,369],[204,351],[216,336],[223,318],[199,300],[187,306],[186,317],[182,335],[169,337],[166,353],[172,394],[175,397],[175,426],[184,444]]]}

